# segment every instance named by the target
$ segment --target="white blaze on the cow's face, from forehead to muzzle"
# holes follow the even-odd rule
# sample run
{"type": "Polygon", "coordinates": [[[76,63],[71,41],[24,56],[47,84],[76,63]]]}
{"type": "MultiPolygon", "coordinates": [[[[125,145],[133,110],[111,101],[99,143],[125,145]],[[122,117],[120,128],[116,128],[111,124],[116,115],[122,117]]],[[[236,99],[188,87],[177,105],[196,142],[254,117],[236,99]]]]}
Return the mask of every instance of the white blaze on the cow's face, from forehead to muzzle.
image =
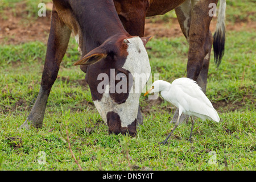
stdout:
{"type": "Polygon", "coordinates": [[[108,85],[106,86],[105,93],[103,94],[101,100],[94,101],[94,105],[96,106],[98,112],[100,113],[105,123],[107,123],[106,115],[108,114],[108,112],[114,111],[119,115],[122,127],[129,126],[132,122],[134,122],[135,119],[137,119],[139,97],[141,96],[142,89],[146,85],[146,82],[151,72],[150,62],[148,60],[146,48],[144,47],[141,38],[135,36],[127,40],[128,56],[122,68],[126,69],[131,73],[131,75],[133,75],[133,87],[129,93],[129,97],[122,104],[117,104],[110,97],[110,87],[108,85]],[[147,76],[147,78],[141,80],[139,89],[135,88],[136,77],[143,73],[147,76]]]}

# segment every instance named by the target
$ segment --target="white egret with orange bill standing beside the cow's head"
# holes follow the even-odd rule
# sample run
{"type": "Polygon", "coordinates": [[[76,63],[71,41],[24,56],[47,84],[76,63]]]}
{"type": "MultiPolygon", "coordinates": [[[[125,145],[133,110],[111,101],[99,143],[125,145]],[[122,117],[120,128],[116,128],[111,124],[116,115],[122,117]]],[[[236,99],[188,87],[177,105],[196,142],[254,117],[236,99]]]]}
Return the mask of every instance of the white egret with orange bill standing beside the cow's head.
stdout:
{"type": "Polygon", "coordinates": [[[151,89],[148,90],[144,96],[148,93],[158,92],[161,93],[164,100],[171,102],[171,104],[179,109],[179,116],[174,128],[168,137],[160,144],[166,144],[167,140],[171,137],[172,133],[179,125],[179,119],[182,113],[191,116],[192,127],[189,136],[190,142],[194,126],[192,116],[199,117],[203,121],[205,121],[205,119],[210,119],[216,122],[220,121],[220,117],[218,117],[218,113],[213,108],[212,103],[209,101],[207,96],[205,96],[196,81],[191,78],[177,78],[172,82],[172,84],[167,81],[157,80],[152,84],[151,89]]]}

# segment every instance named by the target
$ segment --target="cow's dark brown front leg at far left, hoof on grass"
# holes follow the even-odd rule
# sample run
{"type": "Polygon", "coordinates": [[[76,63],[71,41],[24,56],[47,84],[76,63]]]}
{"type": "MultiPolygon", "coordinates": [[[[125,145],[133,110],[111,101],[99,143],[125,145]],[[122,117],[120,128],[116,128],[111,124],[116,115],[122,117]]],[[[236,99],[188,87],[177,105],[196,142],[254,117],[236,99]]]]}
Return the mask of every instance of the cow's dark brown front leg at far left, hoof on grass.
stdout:
{"type": "Polygon", "coordinates": [[[44,112],[52,85],[57,78],[60,63],[67,50],[71,30],[60,20],[57,15],[55,6],[53,5],[51,30],[47,44],[46,61],[44,63],[42,82],[38,97],[32,107],[27,120],[20,126],[20,129],[26,127],[28,129],[29,122],[32,126],[38,128],[42,126],[44,112]]]}

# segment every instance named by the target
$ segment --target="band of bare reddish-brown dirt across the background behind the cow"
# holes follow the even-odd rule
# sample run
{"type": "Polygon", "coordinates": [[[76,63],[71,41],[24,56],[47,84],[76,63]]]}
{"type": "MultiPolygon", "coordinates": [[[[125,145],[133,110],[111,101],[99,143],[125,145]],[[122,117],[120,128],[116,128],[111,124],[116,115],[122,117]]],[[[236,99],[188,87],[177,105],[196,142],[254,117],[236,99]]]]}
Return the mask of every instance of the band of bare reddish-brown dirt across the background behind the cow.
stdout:
{"type": "MultiPolygon", "coordinates": [[[[15,9],[15,14],[11,9],[5,9],[3,13],[5,18],[0,17],[0,44],[20,44],[30,41],[38,40],[47,43],[50,25],[51,25],[51,11],[47,10],[46,17],[24,18],[26,12],[24,9],[25,3],[20,3],[15,9]],[[20,10],[19,10],[20,9],[20,10]],[[22,12],[22,13],[20,13],[22,12]],[[25,13],[25,15],[24,15],[25,13]]],[[[48,9],[51,9],[52,4],[47,4],[48,9]]],[[[217,19],[213,18],[210,24],[210,30],[215,31],[217,19]]],[[[235,24],[228,23],[226,25],[227,31],[255,31],[256,24],[253,22],[237,22],[235,24]]],[[[177,37],[183,36],[180,30],[177,19],[170,19],[169,22],[158,20],[152,23],[151,19],[146,19],[144,36],[153,35],[155,38],[161,37],[177,37]]]]}

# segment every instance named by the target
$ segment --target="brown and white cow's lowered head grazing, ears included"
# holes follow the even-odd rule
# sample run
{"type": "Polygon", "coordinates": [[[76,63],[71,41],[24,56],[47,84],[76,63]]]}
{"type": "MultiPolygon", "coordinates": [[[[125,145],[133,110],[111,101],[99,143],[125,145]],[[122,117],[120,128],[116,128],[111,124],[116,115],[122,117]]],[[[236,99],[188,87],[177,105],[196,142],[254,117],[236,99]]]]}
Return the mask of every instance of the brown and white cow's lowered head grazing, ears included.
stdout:
{"type": "Polygon", "coordinates": [[[110,134],[137,133],[139,97],[151,72],[144,47],[149,39],[112,36],[75,63],[88,65],[85,79],[110,134]],[[143,73],[147,78],[140,79],[138,88],[135,77],[143,73]]]}

